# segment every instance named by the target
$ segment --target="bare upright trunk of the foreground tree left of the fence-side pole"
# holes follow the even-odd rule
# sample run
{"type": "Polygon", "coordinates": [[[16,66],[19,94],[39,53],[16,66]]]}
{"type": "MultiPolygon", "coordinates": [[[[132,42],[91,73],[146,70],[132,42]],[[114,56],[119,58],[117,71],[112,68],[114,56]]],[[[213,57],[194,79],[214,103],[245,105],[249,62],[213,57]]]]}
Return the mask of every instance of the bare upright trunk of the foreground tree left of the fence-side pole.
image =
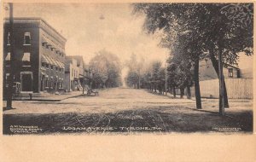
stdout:
{"type": "Polygon", "coordinates": [[[194,79],[195,79],[196,108],[201,109],[201,93],[200,93],[200,85],[199,85],[199,56],[197,56],[195,60],[194,79]]]}

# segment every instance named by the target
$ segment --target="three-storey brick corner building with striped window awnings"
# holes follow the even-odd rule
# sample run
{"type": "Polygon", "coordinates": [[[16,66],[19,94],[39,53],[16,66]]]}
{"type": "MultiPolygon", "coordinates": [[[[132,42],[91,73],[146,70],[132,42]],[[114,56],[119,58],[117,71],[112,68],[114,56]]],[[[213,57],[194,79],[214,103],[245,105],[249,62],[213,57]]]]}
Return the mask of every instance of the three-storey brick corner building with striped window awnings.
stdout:
{"type": "MultiPolygon", "coordinates": [[[[21,92],[63,91],[65,43],[59,32],[40,18],[15,18],[15,82],[21,92]]],[[[10,71],[9,20],[4,21],[3,90],[10,71]]]]}

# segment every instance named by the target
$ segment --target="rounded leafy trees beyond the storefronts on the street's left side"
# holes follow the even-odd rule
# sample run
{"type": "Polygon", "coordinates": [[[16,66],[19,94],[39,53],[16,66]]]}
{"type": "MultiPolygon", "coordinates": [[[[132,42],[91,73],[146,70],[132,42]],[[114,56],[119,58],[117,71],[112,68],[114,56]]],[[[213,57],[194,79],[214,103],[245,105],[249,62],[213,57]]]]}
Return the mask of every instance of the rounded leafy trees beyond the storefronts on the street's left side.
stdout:
{"type": "Polygon", "coordinates": [[[93,89],[118,87],[121,82],[121,64],[119,58],[105,49],[96,53],[90,60],[89,67],[93,72],[91,86],[93,89]]]}

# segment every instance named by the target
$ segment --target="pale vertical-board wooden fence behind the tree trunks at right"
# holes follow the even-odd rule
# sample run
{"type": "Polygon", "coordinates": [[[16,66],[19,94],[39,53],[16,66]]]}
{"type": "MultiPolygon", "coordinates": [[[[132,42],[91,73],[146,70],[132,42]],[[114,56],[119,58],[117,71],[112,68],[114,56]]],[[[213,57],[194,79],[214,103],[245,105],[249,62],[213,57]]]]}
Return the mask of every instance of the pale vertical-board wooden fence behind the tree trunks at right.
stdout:
{"type": "MultiPolygon", "coordinates": [[[[225,78],[225,84],[230,99],[253,99],[253,78],[225,78]]],[[[218,78],[201,81],[200,91],[201,97],[218,98],[218,78]]]]}

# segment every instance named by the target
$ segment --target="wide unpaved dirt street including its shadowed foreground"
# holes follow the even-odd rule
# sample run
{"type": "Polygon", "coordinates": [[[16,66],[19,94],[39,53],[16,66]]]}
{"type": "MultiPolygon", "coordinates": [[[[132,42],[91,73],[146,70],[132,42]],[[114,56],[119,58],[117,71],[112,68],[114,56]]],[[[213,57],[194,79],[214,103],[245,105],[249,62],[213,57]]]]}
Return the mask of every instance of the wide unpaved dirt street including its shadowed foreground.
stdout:
{"type": "MultiPolygon", "coordinates": [[[[227,116],[218,115],[218,101],[173,99],[148,90],[115,88],[99,96],[79,96],[64,101],[14,101],[3,112],[5,134],[19,134],[10,126],[36,126],[32,133],[135,133],[252,131],[253,102],[230,101],[227,116]]],[[[17,130],[17,129],[16,129],[17,130]]],[[[19,129],[18,129],[19,130],[19,129]]],[[[22,129],[21,129],[22,130],[22,129]]],[[[27,133],[21,131],[21,133],[27,133]]],[[[29,132],[31,133],[31,132],[29,132]]]]}

